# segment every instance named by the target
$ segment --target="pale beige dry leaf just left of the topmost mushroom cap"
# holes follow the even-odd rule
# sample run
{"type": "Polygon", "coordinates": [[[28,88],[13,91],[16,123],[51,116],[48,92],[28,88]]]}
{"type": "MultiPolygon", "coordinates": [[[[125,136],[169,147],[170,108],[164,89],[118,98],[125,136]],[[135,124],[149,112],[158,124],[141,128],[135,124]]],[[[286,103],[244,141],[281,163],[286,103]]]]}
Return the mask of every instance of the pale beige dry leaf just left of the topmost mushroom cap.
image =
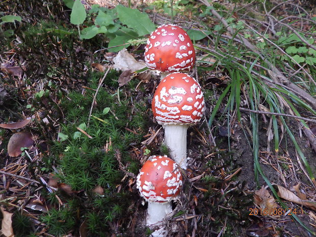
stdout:
{"type": "Polygon", "coordinates": [[[113,62],[113,68],[116,70],[131,70],[134,72],[147,67],[145,62],[137,62],[136,59],[127,52],[126,48],[118,52],[113,62]]]}

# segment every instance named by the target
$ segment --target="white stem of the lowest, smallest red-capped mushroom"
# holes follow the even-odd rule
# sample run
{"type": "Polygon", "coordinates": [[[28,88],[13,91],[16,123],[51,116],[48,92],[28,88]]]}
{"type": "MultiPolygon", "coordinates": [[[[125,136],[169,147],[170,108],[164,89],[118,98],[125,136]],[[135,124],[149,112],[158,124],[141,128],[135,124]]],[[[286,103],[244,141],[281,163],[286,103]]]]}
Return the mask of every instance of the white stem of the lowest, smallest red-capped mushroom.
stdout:
{"type": "Polygon", "coordinates": [[[162,220],[172,213],[171,202],[151,202],[148,201],[147,225],[161,224],[162,220]]]}

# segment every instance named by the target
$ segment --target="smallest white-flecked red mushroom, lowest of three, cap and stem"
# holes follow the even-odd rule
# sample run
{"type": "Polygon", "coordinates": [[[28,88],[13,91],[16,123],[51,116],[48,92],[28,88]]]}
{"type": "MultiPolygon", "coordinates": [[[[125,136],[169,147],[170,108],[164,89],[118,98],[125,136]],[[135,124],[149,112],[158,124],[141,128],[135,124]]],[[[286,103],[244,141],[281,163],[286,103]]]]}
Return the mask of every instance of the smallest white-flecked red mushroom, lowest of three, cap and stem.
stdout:
{"type": "MultiPolygon", "coordinates": [[[[159,225],[172,212],[171,201],[182,186],[178,165],[167,156],[153,155],[145,162],[137,176],[137,188],[148,201],[147,225],[159,225]]],[[[164,231],[160,230],[162,234],[164,231]]],[[[162,236],[156,234],[154,236],[162,236]]]]}

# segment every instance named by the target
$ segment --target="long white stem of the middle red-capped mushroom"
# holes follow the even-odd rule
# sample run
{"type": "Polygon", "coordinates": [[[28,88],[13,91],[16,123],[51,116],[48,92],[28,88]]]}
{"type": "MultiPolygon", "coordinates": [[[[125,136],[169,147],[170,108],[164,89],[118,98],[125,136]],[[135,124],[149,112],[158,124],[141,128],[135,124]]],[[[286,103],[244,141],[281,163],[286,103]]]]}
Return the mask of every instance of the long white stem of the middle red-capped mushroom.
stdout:
{"type": "Polygon", "coordinates": [[[189,125],[167,124],[165,144],[171,150],[171,158],[182,168],[187,169],[187,130],[189,125]]]}

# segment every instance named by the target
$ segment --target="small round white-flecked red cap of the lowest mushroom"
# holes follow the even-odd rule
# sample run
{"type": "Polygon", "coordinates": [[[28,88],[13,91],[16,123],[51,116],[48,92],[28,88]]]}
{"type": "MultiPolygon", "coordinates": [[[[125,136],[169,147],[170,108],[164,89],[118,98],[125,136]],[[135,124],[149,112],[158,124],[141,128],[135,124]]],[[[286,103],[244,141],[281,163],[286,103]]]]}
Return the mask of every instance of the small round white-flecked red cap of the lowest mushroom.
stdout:
{"type": "Polygon", "coordinates": [[[167,156],[150,156],[137,176],[141,196],[152,202],[175,199],[181,186],[182,175],[178,165],[167,156]]]}

